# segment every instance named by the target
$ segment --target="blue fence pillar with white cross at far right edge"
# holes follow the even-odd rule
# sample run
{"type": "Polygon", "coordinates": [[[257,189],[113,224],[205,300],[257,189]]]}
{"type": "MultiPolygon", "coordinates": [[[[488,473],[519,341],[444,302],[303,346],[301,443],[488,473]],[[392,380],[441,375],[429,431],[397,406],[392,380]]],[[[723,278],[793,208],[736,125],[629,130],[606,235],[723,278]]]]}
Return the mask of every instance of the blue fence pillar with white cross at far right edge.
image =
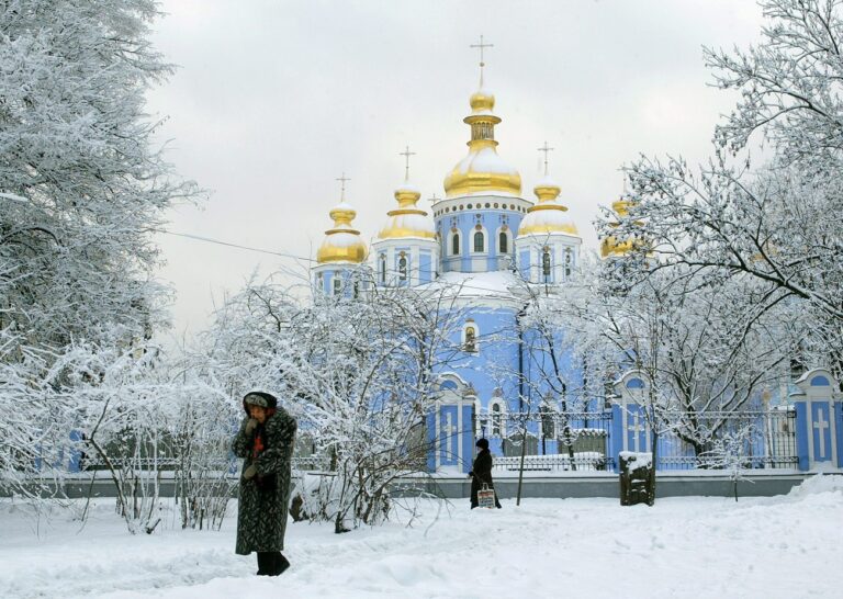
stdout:
{"type": "Polygon", "coordinates": [[[843,465],[843,412],[838,382],[827,369],[813,369],[796,381],[799,391],[790,394],[796,409],[798,467],[843,465]]]}

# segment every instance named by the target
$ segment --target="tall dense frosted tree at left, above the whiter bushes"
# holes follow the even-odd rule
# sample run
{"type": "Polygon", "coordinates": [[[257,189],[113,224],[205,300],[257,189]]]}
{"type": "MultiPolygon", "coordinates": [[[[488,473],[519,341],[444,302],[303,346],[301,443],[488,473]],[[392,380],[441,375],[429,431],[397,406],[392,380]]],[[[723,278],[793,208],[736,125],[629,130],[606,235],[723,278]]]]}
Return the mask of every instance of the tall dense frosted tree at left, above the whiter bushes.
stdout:
{"type": "Polygon", "coordinates": [[[144,93],[171,71],[147,42],[156,15],[149,0],[0,5],[0,328],[27,344],[131,339],[157,318],[150,233],[194,190],[150,149],[144,93]]]}

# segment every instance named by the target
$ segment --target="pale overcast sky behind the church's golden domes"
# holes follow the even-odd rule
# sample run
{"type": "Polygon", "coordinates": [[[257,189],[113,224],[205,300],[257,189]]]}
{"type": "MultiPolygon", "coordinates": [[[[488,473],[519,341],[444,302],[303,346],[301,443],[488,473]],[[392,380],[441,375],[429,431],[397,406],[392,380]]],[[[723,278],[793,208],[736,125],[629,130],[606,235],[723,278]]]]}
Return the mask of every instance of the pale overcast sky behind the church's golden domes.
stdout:
{"type": "MultiPolygon", "coordinates": [[[[409,145],[423,199],[464,156],[481,34],[495,93],[498,154],[541,174],[544,140],[586,247],[592,221],[622,191],[639,154],[710,154],[734,97],[707,84],[701,47],[746,47],[762,22],[751,0],[259,1],[166,0],[154,44],[176,75],[149,94],[168,120],[169,160],[211,190],[170,230],[313,257],[339,200],[371,239],[395,206],[409,145]]],[[[423,207],[429,203],[423,200],[423,207]]],[[[160,278],[177,292],[175,332],[209,324],[214,303],[256,269],[289,259],[161,235],[160,278]]]]}

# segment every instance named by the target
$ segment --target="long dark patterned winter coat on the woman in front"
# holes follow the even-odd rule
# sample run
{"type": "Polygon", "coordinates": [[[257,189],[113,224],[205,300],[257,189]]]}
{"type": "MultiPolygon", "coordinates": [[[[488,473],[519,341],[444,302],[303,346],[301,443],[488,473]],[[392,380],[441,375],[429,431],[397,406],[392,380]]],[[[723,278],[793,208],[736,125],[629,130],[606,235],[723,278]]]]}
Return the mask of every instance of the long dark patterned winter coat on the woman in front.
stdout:
{"type": "Polygon", "coordinates": [[[246,433],[248,421],[247,416],[232,443],[234,454],[244,459],[235,550],[240,555],[284,549],[295,441],[295,419],[281,407],[251,434],[246,433]],[[246,481],[243,472],[251,464],[256,464],[258,474],[246,481]]]}

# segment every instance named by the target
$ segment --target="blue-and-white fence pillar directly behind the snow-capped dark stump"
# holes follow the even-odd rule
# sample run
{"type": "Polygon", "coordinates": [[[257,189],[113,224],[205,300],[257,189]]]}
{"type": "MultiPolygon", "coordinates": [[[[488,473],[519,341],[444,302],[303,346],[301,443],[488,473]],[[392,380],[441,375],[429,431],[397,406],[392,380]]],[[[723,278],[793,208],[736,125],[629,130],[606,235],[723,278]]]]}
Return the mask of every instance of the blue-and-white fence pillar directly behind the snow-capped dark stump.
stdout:
{"type": "MultiPolygon", "coordinates": [[[[615,383],[615,397],[611,406],[611,455],[615,457],[615,471],[620,472],[621,451],[649,452],[650,429],[644,412],[643,398],[649,385],[647,375],[639,370],[627,371],[615,383]]],[[[655,467],[656,464],[653,464],[655,467]]]]}

